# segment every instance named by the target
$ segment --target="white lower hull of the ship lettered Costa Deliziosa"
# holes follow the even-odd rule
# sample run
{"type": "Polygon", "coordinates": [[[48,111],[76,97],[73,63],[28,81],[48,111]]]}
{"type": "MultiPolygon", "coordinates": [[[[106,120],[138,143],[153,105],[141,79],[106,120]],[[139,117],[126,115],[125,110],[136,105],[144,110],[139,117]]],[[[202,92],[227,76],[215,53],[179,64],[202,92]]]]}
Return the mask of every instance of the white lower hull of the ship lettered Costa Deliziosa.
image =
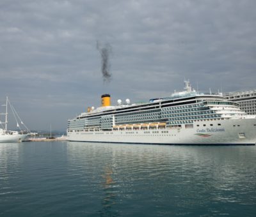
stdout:
{"type": "Polygon", "coordinates": [[[199,121],[193,128],[150,130],[67,131],[67,140],[136,144],[255,145],[256,119],[199,121]],[[199,125],[199,126],[198,126],[199,125]]]}

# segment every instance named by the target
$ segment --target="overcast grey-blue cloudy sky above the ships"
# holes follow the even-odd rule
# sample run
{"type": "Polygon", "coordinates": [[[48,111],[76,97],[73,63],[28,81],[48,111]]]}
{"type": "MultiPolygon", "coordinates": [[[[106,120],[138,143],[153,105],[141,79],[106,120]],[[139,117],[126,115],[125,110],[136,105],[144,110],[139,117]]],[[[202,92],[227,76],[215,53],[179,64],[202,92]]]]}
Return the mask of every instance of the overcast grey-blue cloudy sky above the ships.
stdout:
{"type": "MultiPolygon", "coordinates": [[[[255,0],[1,0],[0,101],[31,130],[65,130],[98,107],[200,91],[255,89],[255,0]],[[101,73],[111,46],[110,82],[101,73]]],[[[3,112],[1,108],[1,112],[3,112]]],[[[3,117],[2,117],[3,119],[3,117]]]]}

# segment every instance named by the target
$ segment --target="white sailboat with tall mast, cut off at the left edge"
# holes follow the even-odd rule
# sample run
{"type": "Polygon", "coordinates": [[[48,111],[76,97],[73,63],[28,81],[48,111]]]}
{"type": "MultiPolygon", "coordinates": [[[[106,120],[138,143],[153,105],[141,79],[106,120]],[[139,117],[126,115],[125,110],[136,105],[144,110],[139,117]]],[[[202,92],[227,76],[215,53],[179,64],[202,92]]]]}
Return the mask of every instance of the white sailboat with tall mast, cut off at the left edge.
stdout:
{"type": "Polygon", "coordinates": [[[22,142],[30,134],[28,128],[21,121],[21,119],[20,119],[19,115],[17,114],[15,108],[11,105],[10,101],[8,100],[8,96],[6,97],[6,104],[3,105],[3,106],[6,107],[6,112],[0,114],[1,116],[5,116],[4,122],[2,122],[1,119],[0,119],[0,142],[22,142]],[[17,127],[20,129],[20,131],[8,130],[7,129],[7,126],[8,126],[8,105],[10,106],[10,108],[13,112],[13,116],[15,117],[15,120],[17,122],[17,127]],[[26,131],[21,130],[18,120],[20,121],[20,124],[22,124],[26,128],[26,131]]]}

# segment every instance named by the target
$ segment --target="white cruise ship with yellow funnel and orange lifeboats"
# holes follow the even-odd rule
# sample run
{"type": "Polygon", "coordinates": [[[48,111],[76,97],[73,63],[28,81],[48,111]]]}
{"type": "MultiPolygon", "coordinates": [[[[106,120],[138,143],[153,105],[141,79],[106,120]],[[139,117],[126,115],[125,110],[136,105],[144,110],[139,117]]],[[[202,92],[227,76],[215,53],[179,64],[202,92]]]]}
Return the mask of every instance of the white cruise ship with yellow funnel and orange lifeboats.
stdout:
{"type": "Polygon", "coordinates": [[[68,120],[67,140],[132,144],[255,145],[256,116],[242,111],[221,93],[199,93],[185,81],[184,91],[147,103],[111,105],[102,95],[99,108],[68,120]]]}

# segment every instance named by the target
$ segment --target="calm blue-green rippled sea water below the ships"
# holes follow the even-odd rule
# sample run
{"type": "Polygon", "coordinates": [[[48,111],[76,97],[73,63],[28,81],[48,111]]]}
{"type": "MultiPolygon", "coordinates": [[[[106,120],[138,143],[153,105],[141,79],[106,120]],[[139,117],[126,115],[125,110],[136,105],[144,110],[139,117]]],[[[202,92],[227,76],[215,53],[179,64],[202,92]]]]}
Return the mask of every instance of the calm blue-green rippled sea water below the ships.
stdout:
{"type": "Polygon", "coordinates": [[[0,216],[256,216],[255,146],[0,144],[0,216]]]}

